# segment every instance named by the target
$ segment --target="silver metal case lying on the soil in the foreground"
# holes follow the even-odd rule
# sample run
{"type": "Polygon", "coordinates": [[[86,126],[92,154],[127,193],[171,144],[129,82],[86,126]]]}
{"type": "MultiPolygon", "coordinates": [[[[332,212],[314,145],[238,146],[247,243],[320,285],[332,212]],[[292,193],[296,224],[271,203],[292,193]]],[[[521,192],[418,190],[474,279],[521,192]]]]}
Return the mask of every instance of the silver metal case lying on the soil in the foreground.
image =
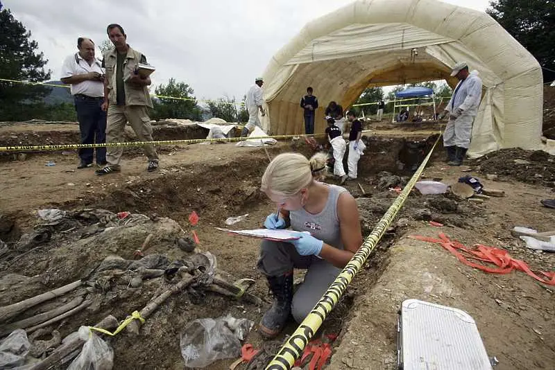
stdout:
{"type": "Polygon", "coordinates": [[[399,369],[491,370],[495,364],[468,313],[407,299],[399,314],[399,369]]]}

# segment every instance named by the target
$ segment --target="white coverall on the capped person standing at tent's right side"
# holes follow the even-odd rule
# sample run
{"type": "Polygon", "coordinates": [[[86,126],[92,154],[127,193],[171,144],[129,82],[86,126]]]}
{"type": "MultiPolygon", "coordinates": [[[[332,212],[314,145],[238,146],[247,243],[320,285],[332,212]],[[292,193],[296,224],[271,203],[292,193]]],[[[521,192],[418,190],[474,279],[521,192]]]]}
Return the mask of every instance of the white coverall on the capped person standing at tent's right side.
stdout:
{"type": "Polygon", "coordinates": [[[446,110],[455,112],[457,108],[463,113],[455,120],[449,120],[443,132],[443,146],[458,146],[467,148],[470,146],[472,136],[472,123],[478,113],[481,99],[481,79],[477,71],[472,71],[465,80],[456,85],[453,96],[447,103],[446,110]]]}

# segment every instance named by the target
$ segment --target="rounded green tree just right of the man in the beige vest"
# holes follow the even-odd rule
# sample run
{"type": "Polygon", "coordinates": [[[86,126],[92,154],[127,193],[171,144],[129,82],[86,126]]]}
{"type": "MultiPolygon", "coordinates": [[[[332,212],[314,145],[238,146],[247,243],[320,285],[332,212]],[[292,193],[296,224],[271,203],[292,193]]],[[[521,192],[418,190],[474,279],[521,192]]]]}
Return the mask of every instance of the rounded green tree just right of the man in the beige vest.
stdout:
{"type": "Polygon", "coordinates": [[[194,90],[185,82],[176,82],[175,78],[170,78],[167,85],[156,87],[155,93],[154,119],[185,118],[200,121],[200,109],[196,105],[194,90]]]}

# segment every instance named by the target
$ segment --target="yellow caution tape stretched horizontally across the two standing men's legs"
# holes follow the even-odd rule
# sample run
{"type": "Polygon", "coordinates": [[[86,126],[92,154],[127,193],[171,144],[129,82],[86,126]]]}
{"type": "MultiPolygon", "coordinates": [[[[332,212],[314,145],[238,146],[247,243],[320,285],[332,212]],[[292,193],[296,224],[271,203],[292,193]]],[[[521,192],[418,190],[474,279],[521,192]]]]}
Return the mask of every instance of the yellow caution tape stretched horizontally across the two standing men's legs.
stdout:
{"type": "Polygon", "coordinates": [[[198,144],[198,143],[228,143],[232,141],[244,141],[253,139],[291,139],[300,136],[325,136],[326,134],[311,135],[274,135],[274,136],[248,136],[228,137],[225,139],[186,139],[186,140],[163,140],[163,141],[129,141],[126,143],[102,143],[102,144],[53,144],[44,146],[0,146],[0,152],[28,152],[41,150],[64,150],[79,148],[104,148],[107,146],[146,146],[146,145],[176,145],[176,144],[198,144]]]}

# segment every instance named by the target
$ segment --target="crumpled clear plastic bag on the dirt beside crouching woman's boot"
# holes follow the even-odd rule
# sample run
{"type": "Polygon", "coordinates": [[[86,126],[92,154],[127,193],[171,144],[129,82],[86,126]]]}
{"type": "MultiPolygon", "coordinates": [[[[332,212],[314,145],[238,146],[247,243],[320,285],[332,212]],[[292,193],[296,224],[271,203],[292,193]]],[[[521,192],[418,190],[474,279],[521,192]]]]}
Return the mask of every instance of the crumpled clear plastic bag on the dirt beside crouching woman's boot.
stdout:
{"type": "Polygon", "coordinates": [[[241,355],[241,340],[253,321],[231,315],[218,319],[196,319],[181,334],[181,355],[187,367],[207,367],[216,360],[241,355]]]}

